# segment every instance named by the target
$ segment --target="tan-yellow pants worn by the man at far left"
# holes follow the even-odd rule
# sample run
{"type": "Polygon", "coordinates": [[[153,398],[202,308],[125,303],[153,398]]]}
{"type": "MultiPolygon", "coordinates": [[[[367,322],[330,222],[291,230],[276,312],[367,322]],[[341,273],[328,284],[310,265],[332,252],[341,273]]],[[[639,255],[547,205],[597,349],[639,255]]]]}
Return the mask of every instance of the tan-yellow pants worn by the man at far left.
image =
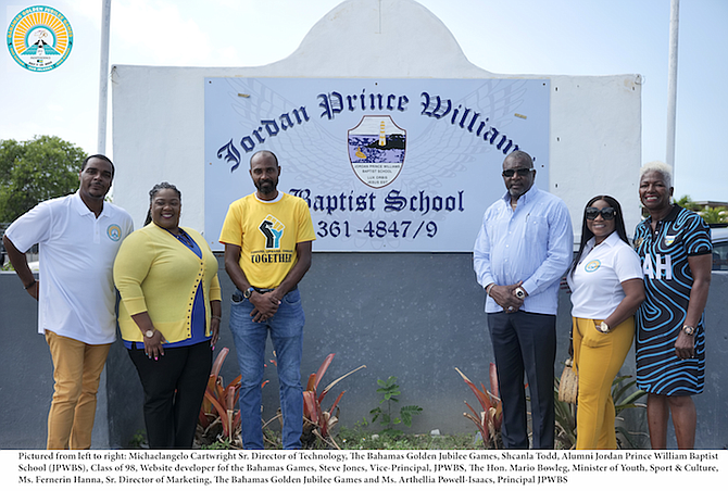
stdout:
{"type": "Polygon", "coordinates": [[[96,393],[111,344],[86,344],[46,331],[53,358],[53,401],[48,413],[48,450],[91,448],[96,393]]]}

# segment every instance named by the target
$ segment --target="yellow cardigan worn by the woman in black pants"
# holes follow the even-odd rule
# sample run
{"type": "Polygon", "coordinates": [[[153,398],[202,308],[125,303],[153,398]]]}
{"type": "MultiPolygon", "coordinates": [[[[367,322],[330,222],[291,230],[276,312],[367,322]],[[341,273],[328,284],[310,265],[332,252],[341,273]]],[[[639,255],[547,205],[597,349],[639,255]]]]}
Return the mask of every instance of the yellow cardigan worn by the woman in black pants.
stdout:
{"type": "Polygon", "coordinates": [[[202,251],[202,259],[154,223],[130,234],[116,254],[114,284],[122,295],[118,326],[125,341],[142,341],[133,315],[148,312],[154,328],[168,342],[192,336],[194,294],[203,288],[205,333],[210,336],[210,302],[222,300],[217,259],[202,236],[185,228],[202,251]]]}

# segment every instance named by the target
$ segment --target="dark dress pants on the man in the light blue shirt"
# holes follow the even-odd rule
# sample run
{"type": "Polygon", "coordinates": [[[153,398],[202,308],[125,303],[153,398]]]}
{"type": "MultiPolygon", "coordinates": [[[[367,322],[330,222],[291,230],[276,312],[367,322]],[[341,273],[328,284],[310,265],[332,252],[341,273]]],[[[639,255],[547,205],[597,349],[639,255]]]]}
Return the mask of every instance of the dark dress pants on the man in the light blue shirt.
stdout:
{"type": "Polygon", "coordinates": [[[503,446],[528,449],[525,374],[531,398],[534,449],[553,449],[556,316],[499,312],[488,314],[488,327],[503,402],[503,446]]]}

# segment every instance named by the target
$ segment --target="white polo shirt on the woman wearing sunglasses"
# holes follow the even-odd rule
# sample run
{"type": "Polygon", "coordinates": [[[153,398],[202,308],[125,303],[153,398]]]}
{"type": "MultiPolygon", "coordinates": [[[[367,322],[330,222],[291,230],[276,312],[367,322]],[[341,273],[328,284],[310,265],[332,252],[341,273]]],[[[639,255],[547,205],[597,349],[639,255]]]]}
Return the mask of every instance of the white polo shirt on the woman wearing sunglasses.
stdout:
{"type": "Polygon", "coordinates": [[[572,289],[572,316],[605,319],[625,298],[622,282],[635,278],[642,278],[640,259],[616,231],[597,247],[592,237],[574,275],[566,275],[572,289]]]}

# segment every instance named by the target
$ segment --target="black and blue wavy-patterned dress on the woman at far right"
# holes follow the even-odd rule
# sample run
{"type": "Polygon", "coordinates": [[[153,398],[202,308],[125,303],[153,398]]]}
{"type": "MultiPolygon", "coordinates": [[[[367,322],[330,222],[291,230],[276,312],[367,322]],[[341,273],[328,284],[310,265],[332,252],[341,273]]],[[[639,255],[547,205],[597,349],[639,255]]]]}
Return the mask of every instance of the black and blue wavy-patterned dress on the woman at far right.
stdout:
{"type": "Polygon", "coordinates": [[[695,326],[693,358],[679,360],[675,341],[685,324],[693,281],[688,257],[712,253],[711,229],[700,215],[677,205],[654,232],[651,225],[649,217],[635,230],[647,294],[636,315],[637,386],[654,394],[698,394],[705,378],[705,314],[695,326]]]}

